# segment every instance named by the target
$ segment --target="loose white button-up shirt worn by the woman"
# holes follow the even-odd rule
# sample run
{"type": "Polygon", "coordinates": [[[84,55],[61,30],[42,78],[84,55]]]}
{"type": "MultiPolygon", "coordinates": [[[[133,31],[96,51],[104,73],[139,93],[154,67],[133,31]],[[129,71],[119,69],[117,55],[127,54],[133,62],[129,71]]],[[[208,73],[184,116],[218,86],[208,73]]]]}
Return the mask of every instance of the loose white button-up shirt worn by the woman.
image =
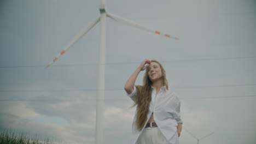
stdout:
{"type": "MultiPolygon", "coordinates": [[[[127,94],[133,101],[135,100],[137,89],[133,87],[133,92],[131,94],[127,94]]],[[[139,97],[139,96],[138,96],[139,97]]],[[[161,87],[160,91],[156,95],[156,89],[152,87],[152,95],[151,101],[149,104],[149,112],[147,115],[147,122],[154,112],[154,120],[158,125],[158,128],[162,132],[162,134],[166,137],[167,144],[178,144],[178,133],[177,133],[177,125],[178,123],[183,123],[180,115],[181,109],[181,101],[179,100],[176,93],[167,90],[166,87],[161,87]]],[[[132,144],[137,144],[137,140],[139,135],[141,135],[143,129],[141,131],[137,130],[135,120],[136,115],[133,118],[132,122],[132,144]]]]}

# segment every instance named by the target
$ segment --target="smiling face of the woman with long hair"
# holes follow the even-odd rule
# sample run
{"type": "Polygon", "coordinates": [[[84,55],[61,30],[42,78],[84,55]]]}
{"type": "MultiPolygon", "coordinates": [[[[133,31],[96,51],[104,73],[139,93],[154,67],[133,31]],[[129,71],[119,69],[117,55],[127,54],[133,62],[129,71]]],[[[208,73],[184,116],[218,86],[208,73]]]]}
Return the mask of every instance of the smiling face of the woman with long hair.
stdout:
{"type": "Polygon", "coordinates": [[[162,70],[160,65],[156,62],[150,63],[148,67],[148,76],[149,79],[154,82],[162,78],[162,70]]]}

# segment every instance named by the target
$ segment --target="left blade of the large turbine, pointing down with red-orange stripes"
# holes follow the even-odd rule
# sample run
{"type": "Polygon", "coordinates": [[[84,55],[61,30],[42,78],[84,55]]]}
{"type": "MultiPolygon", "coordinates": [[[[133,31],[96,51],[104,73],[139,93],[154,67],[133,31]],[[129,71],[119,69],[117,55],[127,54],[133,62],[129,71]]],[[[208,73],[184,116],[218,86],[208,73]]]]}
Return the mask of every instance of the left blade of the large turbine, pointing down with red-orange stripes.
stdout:
{"type": "Polygon", "coordinates": [[[77,36],[75,36],[71,43],[69,43],[65,49],[63,49],[45,68],[50,67],[50,65],[53,64],[61,55],[63,55],[74,43],[76,43],[80,38],[83,37],[84,34],[90,31],[90,29],[94,27],[98,21],[100,21],[100,17],[97,17],[95,20],[91,21],[89,25],[86,26],[77,36]]]}

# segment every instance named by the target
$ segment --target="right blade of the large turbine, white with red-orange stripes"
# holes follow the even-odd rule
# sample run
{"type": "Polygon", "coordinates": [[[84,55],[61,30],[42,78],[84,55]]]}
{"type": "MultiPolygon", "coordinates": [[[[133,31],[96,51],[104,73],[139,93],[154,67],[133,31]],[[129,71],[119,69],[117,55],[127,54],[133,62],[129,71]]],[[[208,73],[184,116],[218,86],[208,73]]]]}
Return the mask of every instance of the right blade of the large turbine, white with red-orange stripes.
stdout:
{"type": "Polygon", "coordinates": [[[164,33],[161,33],[159,31],[154,31],[153,29],[150,29],[150,28],[144,27],[142,25],[139,25],[136,22],[133,22],[133,21],[130,21],[130,20],[126,20],[126,19],[124,19],[123,17],[120,17],[120,16],[113,15],[113,14],[110,14],[110,13],[107,13],[107,16],[110,17],[111,19],[115,20],[115,21],[124,23],[125,25],[130,25],[130,26],[133,26],[133,27],[137,27],[139,29],[143,29],[144,31],[153,32],[155,34],[160,34],[160,35],[164,35],[165,37],[168,37],[168,38],[179,40],[179,38],[177,38],[177,37],[173,37],[173,36],[171,36],[169,34],[164,34],[164,33]]]}

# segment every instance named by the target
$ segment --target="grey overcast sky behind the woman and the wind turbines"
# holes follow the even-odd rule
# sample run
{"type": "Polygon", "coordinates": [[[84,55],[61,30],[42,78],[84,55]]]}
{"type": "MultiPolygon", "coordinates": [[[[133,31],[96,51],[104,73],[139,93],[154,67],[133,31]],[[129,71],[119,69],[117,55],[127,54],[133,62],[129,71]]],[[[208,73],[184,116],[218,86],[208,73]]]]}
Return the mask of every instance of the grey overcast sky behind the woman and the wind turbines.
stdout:
{"type": "MultiPolygon", "coordinates": [[[[0,1],[0,131],[94,143],[99,23],[45,66],[100,16],[99,4],[0,1]]],[[[200,143],[256,143],[255,1],[108,0],[107,8],[180,40],[107,18],[104,143],[130,143],[135,108],[123,86],[146,58],[164,65],[179,94],[181,143],[212,132],[200,143]]]]}

